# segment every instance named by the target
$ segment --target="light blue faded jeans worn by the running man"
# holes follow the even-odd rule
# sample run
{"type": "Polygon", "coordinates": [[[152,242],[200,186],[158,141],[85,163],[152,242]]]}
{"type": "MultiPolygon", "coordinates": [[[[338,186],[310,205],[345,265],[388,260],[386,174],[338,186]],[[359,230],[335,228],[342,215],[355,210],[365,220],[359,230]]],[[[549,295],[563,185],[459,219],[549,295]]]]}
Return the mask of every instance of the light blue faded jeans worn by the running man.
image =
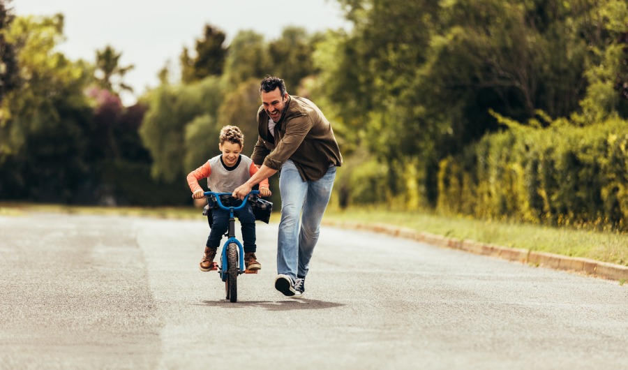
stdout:
{"type": "Polygon", "coordinates": [[[277,272],[304,277],[318,241],[320,221],[329,203],[336,179],[336,166],[317,181],[304,181],[290,160],[283,163],[279,175],[281,221],[277,246],[277,272]]]}

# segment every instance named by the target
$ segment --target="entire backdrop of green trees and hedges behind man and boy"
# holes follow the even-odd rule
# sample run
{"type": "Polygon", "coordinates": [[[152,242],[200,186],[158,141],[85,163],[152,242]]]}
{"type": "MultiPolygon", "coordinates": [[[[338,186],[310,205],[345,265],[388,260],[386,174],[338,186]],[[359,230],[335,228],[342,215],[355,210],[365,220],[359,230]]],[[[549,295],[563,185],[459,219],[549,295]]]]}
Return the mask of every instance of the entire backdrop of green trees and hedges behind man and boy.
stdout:
{"type": "Polygon", "coordinates": [[[371,189],[407,209],[625,228],[625,1],[339,2],[351,31],[287,27],[269,43],[241,31],[227,48],[207,24],[181,53],[181,84],[164,68],[133,111],[84,94],[95,68],[105,89],[124,89],[112,77],[129,67],[113,47],[96,66],[69,61],[55,50],[61,15],[10,23],[0,7],[0,196],[40,182],[70,198],[102,176],[123,199],[130,186],[112,173],[149,164],[149,186],[179,184],[218,154],[226,124],[250,153],[257,84],[274,74],[332,122],[341,204],[380,202],[371,189]]]}

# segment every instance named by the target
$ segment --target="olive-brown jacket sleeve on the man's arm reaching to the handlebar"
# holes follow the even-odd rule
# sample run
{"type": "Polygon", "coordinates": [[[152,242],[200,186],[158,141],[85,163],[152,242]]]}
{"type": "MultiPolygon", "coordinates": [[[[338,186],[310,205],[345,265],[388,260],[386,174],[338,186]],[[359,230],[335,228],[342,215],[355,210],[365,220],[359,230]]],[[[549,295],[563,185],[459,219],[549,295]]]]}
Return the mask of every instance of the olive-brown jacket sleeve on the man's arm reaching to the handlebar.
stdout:
{"type": "Polygon", "coordinates": [[[313,126],[312,119],[305,114],[288,119],[285,122],[283,138],[279,140],[275,149],[266,156],[264,165],[273,170],[280,170],[281,165],[294,154],[294,151],[299,149],[301,142],[303,142],[313,126]]]}

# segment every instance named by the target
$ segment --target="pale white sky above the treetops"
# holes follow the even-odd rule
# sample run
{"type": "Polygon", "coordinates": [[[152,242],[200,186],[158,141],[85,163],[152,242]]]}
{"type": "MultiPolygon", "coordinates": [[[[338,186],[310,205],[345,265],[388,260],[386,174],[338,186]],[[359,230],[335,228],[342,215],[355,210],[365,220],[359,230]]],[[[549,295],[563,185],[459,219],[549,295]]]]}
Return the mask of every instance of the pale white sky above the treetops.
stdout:
{"type": "Polygon", "coordinates": [[[96,50],[107,45],[121,52],[119,64],[135,66],[124,78],[135,91],[122,96],[125,105],[158,85],[158,71],[167,62],[179,71],[181,50],[194,49],[205,24],[225,32],[227,45],[241,30],[268,41],[287,26],[351,29],[336,0],[13,0],[8,6],[19,16],[62,13],[66,40],[58,49],[69,59],[93,63],[96,50]]]}

